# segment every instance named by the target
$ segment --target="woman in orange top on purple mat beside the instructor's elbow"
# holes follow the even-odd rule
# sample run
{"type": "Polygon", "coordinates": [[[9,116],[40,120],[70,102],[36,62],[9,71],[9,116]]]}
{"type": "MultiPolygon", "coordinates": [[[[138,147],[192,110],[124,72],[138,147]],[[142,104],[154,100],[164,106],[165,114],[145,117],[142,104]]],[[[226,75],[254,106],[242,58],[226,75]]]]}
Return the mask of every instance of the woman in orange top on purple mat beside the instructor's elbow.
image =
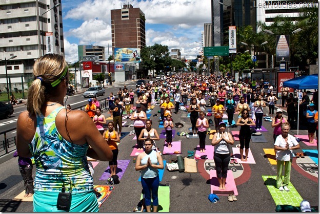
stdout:
{"type": "Polygon", "coordinates": [[[114,123],[112,121],[108,122],[108,130],[105,131],[103,134],[105,141],[108,143],[109,147],[111,148],[111,151],[113,153],[112,161],[109,162],[110,167],[110,177],[115,176],[116,174],[116,167],[117,167],[117,158],[118,158],[118,145],[116,143],[120,142],[120,137],[118,132],[115,132],[113,130],[114,123]]]}

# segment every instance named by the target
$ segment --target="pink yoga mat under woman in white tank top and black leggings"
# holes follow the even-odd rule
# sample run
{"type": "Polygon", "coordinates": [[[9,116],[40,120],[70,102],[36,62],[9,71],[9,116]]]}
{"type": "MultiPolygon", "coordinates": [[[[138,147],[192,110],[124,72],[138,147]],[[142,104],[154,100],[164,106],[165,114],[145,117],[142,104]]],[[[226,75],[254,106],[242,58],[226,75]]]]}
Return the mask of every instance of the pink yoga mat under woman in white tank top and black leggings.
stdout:
{"type": "Polygon", "coordinates": [[[235,196],[238,195],[238,190],[236,188],[231,170],[228,170],[227,180],[226,180],[226,190],[219,189],[219,182],[216,177],[216,170],[210,170],[209,172],[210,172],[210,189],[211,189],[210,193],[212,193],[213,191],[217,191],[216,195],[222,196],[222,195],[229,195],[230,191],[233,191],[235,196]]]}

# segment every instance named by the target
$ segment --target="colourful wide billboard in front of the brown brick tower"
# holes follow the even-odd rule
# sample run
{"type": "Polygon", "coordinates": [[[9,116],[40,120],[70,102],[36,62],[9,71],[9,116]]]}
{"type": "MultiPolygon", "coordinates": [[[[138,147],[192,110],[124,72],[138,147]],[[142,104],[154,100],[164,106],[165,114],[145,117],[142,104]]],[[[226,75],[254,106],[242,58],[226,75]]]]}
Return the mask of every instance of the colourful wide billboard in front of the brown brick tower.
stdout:
{"type": "Polygon", "coordinates": [[[116,62],[139,61],[140,49],[139,48],[115,48],[114,60],[116,62]]]}

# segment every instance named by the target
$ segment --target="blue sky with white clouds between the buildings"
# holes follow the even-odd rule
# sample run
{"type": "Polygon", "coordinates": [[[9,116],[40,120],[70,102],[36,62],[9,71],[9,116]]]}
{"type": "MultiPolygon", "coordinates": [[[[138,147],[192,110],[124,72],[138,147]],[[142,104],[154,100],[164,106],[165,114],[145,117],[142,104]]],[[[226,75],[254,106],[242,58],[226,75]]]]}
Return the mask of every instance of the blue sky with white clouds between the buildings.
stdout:
{"type": "Polygon", "coordinates": [[[145,13],[147,46],[180,49],[186,59],[199,55],[211,0],[62,0],[66,60],[78,61],[78,45],[104,46],[107,57],[109,44],[111,55],[111,10],[128,3],[145,13]]]}

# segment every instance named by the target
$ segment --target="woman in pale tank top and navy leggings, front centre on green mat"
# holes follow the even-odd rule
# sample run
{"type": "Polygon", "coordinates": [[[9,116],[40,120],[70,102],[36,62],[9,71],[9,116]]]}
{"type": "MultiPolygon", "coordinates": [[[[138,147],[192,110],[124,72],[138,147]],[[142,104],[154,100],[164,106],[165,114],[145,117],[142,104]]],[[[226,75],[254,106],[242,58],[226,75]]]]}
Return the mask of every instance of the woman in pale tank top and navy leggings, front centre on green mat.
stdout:
{"type": "Polygon", "coordinates": [[[159,172],[163,169],[163,159],[161,155],[152,150],[152,140],[145,140],[145,152],[140,153],[135,162],[135,170],[141,171],[141,184],[145,191],[145,203],[147,212],[151,211],[151,192],[153,212],[158,209],[158,188],[159,188],[159,172]]]}

